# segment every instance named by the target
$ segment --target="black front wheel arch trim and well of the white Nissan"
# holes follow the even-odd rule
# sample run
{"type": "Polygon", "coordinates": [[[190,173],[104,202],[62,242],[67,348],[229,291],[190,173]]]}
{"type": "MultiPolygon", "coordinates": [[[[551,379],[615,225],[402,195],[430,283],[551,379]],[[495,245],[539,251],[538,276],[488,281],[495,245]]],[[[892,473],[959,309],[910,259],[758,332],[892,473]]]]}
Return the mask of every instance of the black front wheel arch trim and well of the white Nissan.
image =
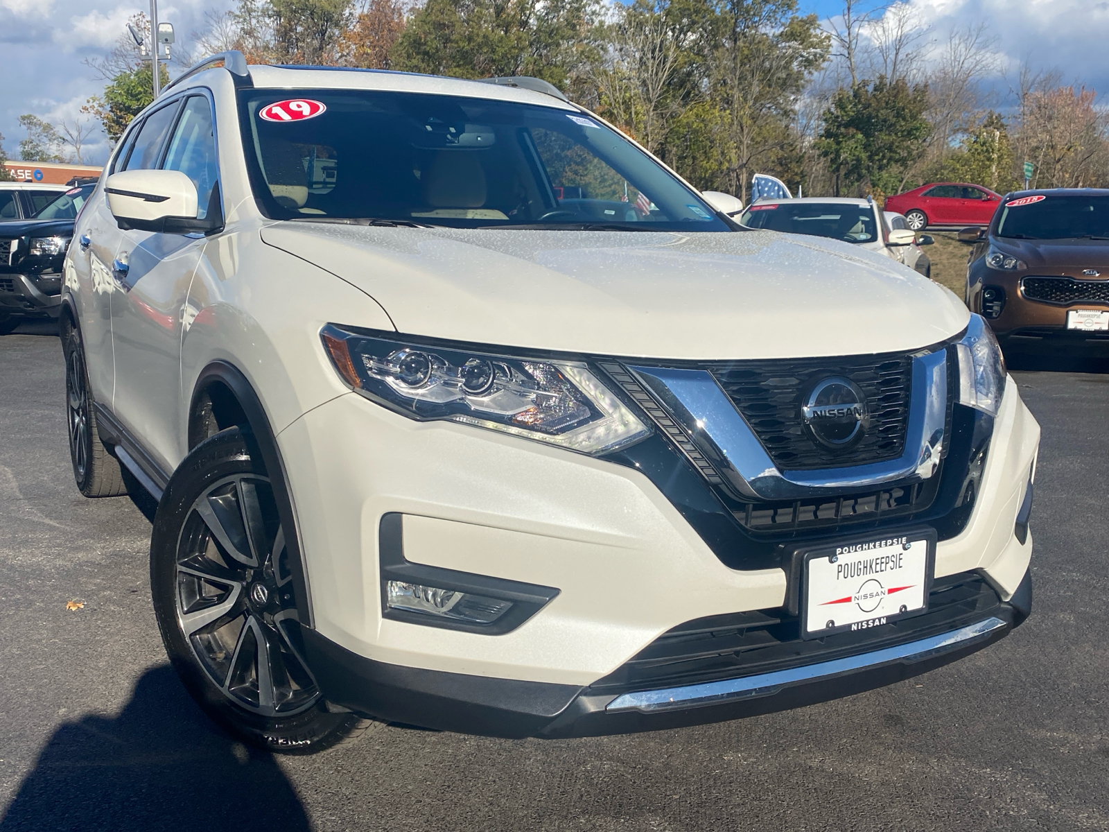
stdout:
{"type": "Polygon", "coordinates": [[[189,450],[192,451],[208,436],[230,427],[248,430],[265,465],[266,474],[273,483],[282,525],[292,530],[292,534],[285,535],[285,545],[289,549],[289,568],[296,589],[297,616],[303,626],[314,627],[315,618],[312,611],[308,574],[304,562],[301,527],[296,519],[296,506],[288,488],[288,477],[277,447],[277,438],[262,399],[246,375],[225,361],[216,361],[201,371],[193,388],[189,406],[189,450]]]}

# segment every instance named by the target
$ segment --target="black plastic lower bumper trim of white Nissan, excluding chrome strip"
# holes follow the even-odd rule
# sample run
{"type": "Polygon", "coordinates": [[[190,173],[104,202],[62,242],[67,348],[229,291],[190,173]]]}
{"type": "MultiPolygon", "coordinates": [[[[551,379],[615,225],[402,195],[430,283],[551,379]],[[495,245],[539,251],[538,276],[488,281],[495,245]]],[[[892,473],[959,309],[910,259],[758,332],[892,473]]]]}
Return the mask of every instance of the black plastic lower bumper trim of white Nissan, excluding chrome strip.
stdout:
{"type": "MultiPolygon", "coordinates": [[[[721,722],[838,699],[908,679],[980,650],[1008,635],[1028,617],[1030,610],[1031,577],[1026,574],[1008,602],[998,601],[971,619],[995,618],[1004,621],[1005,626],[993,630],[987,638],[956,647],[949,652],[914,662],[865,667],[833,679],[793,684],[754,699],[696,703],[654,713],[606,710],[622,692],[643,689],[639,686],[606,686],[599,682],[577,687],[401,667],[358,656],[315,630],[303,628],[302,632],[312,671],[324,697],[333,704],[377,719],[437,730],[551,739],[721,722]]],[[[953,628],[955,626],[952,625],[953,628]]],[[[913,633],[906,632],[905,636],[903,641],[909,640],[913,633]]],[[[876,649],[876,646],[871,649],[876,649]]],[[[862,652],[865,655],[866,651],[862,652]]],[[[859,655],[859,651],[853,655],[859,655]]],[[[804,666],[811,661],[813,657],[810,656],[795,659],[792,663],[804,666]]],[[[617,674],[609,674],[606,680],[617,674]]]]}

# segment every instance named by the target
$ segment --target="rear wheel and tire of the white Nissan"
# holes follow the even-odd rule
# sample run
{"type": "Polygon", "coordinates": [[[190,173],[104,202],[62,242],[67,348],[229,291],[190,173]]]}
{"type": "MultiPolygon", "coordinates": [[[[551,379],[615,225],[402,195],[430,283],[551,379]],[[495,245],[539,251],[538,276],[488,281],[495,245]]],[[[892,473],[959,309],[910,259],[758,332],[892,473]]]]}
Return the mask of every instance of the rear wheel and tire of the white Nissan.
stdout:
{"type": "Polygon", "coordinates": [[[63,329],[65,354],[65,423],[69,428],[73,480],[85,497],[118,497],[128,493],[120,460],[100,442],[96,410],[92,406],[84,346],[74,326],[63,329]]]}

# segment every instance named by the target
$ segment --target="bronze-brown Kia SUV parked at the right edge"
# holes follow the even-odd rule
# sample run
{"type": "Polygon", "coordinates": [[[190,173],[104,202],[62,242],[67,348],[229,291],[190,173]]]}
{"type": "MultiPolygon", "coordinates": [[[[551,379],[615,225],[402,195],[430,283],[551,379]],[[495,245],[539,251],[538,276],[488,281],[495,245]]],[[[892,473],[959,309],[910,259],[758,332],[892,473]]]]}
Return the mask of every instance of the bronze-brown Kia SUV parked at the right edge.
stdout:
{"type": "Polygon", "coordinates": [[[966,302],[1004,347],[1109,348],[1109,190],[1005,196],[970,253],[966,302]]]}

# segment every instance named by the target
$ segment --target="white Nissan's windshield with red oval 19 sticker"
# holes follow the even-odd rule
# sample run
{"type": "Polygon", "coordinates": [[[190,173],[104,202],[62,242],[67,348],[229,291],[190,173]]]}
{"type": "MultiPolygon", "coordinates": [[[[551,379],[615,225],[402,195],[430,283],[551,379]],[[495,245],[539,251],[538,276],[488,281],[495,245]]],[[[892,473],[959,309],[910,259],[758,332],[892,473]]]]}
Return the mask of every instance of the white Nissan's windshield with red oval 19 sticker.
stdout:
{"type": "Polygon", "coordinates": [[[274,219],[730,230],[634,144],[576,110],[407,92],[297,94],[240,93],[252,186],[274,219]]]}

